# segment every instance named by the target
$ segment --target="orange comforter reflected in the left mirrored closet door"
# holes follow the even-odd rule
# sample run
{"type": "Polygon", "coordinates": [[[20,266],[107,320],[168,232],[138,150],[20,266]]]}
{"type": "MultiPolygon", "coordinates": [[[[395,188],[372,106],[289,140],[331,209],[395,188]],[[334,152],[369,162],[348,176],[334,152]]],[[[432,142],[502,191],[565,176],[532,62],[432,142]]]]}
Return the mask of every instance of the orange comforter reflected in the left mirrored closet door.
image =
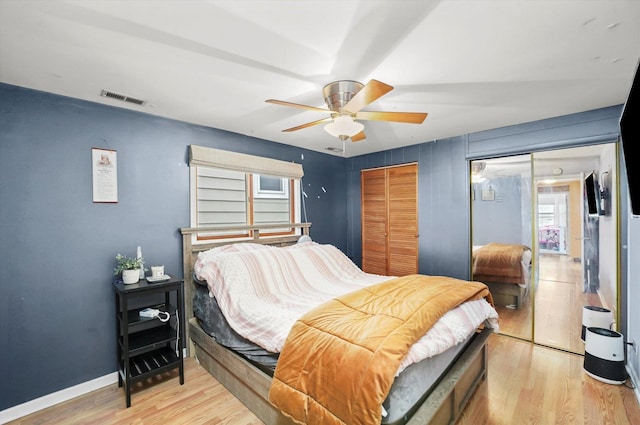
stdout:
{"type": "Polygon", "coordinates": [[[473,279],[481,282],[526,284],[522,257],[525,245],[490,243],[473,252],[473,279]]]}

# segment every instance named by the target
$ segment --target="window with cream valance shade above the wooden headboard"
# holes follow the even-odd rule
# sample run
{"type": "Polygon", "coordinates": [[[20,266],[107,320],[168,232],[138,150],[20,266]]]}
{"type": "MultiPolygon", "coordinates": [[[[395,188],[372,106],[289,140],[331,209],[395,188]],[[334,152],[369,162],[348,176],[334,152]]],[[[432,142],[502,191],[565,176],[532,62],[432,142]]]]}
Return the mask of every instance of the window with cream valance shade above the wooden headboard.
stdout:
{"type": "Polygon", "coordinates": [[[191,227],[237,228],[200,233],[194,242],[252,237],[243,229],[249,225],[271,225],[261,236],[294,233],[290,227],[273,225],[299,221],[299,164],[195,146],[190,153],[191,227]]]}

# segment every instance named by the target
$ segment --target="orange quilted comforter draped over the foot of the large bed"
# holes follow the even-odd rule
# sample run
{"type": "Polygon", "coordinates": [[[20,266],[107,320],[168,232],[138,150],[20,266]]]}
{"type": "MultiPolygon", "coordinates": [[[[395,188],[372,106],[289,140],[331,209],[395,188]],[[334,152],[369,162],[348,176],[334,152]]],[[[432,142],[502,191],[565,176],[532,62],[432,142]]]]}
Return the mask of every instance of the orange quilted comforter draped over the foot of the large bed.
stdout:
{"type": "Polygon", "coordinates": [[[480,282],[410,275],[331,300],[301,317],[280,353],[269,400],[306,424],[379,424],[409,347],[447,311],[486,298],[480,282]]]}

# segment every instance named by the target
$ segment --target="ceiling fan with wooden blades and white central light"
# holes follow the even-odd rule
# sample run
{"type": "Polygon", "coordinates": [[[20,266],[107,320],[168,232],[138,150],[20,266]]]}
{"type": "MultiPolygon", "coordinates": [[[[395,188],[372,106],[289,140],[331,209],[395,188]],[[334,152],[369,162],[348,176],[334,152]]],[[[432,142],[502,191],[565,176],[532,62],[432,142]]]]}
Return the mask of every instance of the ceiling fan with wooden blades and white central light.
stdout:
{"type": "Polygon", "coordinates": [[[328,117],[321,120],[308,122],[306,124],[282,130],[284,132],[296,131],[312,127],[314,125],[327,123],[324,126],[327,133],[342,141],[351,138],[352,142],[358,142],[360,140],[364,140],[366,136],[364,134],[364,125],[356,120],[422,124],[427,117],[426,112],[384,112],[362,110],[367,105],[376,101],[391,90],[393,90],[393,87],[378,80],[371,80],[366,85],[357,81],[340,80],[329,83],[322,89],[324,101],[329,109],[285,102],[283,100],[276,99],[268,99],[266,102],[329,114],[328,117]]]}

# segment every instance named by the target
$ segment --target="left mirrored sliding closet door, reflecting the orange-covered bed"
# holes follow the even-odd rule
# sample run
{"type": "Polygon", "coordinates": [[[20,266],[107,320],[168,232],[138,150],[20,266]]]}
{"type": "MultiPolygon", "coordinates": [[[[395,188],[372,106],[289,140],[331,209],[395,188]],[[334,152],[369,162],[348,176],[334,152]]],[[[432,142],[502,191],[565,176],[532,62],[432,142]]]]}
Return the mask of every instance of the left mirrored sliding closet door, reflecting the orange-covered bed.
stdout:
{"type": "Polygon", "coordinates": [[[531,155],[471,162],[472,279],[485,282],[500,333],[533,339],[531,155]]]}

